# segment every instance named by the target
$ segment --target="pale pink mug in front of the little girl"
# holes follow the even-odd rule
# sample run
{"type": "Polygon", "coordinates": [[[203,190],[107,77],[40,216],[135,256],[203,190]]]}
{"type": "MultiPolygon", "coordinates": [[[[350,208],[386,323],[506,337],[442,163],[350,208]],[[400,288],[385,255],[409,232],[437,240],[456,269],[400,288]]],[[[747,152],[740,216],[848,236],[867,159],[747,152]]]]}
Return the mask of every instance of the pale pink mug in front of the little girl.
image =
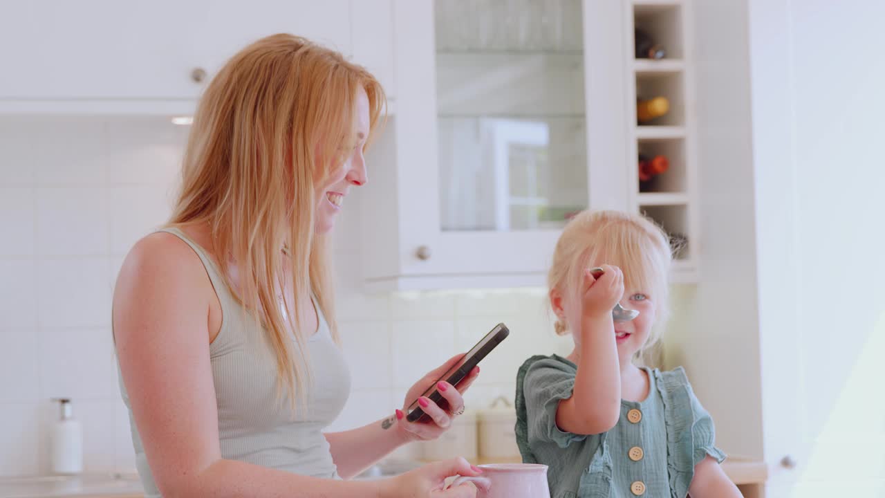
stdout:
{"type": "Polygon", "coordinates": [[[550,498],[547,465],[539,463],[488,463],[480,465],[482,474],[459,477],[451,486],[470,481],[476,486],[476,498],[550,498]]]}

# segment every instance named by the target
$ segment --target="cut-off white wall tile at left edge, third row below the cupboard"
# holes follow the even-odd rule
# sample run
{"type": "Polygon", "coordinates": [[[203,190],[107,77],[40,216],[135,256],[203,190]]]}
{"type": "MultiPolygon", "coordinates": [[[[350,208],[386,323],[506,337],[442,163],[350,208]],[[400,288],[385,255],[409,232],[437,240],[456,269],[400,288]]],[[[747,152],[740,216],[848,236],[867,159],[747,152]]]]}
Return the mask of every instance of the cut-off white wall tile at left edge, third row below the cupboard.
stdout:
{"type": "Polygon", "coordinates": [[[0,329],[35,327],[37,286],[34,260],[0,260],[0,329]]]}

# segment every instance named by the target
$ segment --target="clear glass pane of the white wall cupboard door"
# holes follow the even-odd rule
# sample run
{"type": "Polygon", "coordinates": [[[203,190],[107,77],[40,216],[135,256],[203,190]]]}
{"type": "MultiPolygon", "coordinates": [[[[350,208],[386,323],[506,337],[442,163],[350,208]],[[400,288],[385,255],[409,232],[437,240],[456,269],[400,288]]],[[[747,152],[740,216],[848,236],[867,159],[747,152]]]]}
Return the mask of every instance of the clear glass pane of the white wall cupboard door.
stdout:
{"type": "Polygon", "coordinates": [[[440,228],[562,227],[588,206],[581,0],[436,0],[440,228]]]}

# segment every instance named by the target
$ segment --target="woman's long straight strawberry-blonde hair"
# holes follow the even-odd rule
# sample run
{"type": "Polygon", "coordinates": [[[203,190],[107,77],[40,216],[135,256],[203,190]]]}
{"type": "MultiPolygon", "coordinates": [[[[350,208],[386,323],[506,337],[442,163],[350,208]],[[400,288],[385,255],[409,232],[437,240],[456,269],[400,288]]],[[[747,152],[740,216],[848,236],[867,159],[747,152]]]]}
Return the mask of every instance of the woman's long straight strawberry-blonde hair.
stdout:
{"type": "Polygon", "coordinates": [[[278,396],[289,394],[293,409],[306,401],[311,382],[306,345],[312,331],[297,326],[312,313],[302,306],[311,293],[338,340],[327,236],[314,233],[314,184],[341,167],[353,148],[359,89],[369,99],[371,140],[386,97],[365,68],[285,34],[235,54],[197,106],[169,222],[210,227],[221,273],[265,328],[276,353],[278,396]],[[295,292],[294,302],[283,304],[285,314],[278,299],[286,286],[283,258],[295,292]],[[238,287],[230,281],[231,261],[238,287]]]}

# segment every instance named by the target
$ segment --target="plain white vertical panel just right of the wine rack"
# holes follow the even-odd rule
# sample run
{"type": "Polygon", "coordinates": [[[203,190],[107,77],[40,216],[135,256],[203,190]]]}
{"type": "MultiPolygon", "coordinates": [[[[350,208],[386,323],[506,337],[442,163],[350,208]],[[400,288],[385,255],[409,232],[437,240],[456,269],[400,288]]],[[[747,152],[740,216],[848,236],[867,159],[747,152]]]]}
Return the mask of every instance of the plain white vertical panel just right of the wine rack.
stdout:
{"type": "Polygon", "coordinates": [[[684,365],[729,455],[762,457],[747,10],[691,3],[701,282],[680,285],[665,343],[684,365]]]}

